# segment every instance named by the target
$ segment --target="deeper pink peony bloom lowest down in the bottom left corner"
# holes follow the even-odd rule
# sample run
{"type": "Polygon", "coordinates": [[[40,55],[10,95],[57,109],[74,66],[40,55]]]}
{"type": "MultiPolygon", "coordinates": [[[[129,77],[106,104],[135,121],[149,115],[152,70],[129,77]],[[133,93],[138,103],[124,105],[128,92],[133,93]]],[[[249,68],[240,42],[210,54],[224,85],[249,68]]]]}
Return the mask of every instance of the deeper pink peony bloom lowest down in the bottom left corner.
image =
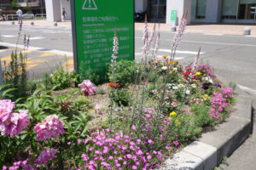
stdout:
{"type": "Polygon", "coordinates": [[[44,150],[40,153],[40,155],[35,160],[35,162],[38,165],[47,165],[48,161],[56,157],[55,156],[56,153],[57,153],[57,150],[55,149],[44,148],[44,150]]]}

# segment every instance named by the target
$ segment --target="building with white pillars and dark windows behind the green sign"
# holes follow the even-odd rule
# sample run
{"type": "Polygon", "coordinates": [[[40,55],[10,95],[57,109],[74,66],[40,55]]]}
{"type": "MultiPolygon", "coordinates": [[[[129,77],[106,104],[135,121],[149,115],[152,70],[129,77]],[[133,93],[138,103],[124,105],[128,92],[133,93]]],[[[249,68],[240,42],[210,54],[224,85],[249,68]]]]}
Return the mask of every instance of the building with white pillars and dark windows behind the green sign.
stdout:
{"type": "MultiPolygon", "coordinates": [[[[62,8],[71,20],[70,0],[45,3],[47,20],[61,21],[62,8]]],[[[188,14],[189,23],[256,23],[254,7],[256,0],[135,0],[136,12],[145,12],[149,21],[167,24],[171,24],[172,10],[177,11],[177,23],[183,14],[188,14]]]]}

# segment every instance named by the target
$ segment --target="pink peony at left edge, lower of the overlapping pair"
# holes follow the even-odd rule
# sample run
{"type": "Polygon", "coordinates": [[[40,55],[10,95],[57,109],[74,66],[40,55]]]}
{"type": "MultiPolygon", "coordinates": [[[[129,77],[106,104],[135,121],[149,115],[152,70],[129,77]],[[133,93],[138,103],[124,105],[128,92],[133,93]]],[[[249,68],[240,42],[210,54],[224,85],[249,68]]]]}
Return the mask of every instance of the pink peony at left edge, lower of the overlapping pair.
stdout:
{"type": "Polygon", "coordinates": [[[19,135],[29,124],[27,111],[20,113],[2,113],[0,114],[0,131],[3,136],[10,135],[11,138],[19,135]]]}

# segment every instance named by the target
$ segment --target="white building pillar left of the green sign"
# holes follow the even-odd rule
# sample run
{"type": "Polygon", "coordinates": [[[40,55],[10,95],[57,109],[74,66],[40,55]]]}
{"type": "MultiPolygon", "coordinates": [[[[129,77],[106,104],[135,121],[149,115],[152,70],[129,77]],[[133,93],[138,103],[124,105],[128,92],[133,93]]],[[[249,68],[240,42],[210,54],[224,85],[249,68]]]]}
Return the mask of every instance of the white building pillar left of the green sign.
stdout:
{"type": "Polygon", "coordinates": [[[45,0],[46,17],[48,21],[61,21],[60,0],[45,0]]]}

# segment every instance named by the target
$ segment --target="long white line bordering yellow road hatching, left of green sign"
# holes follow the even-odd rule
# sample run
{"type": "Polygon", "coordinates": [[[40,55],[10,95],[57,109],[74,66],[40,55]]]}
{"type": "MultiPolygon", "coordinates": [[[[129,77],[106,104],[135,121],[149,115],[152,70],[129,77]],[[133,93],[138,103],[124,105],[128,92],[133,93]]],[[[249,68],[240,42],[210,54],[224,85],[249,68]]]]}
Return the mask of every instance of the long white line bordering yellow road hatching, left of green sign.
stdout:
{"type": "MultiPolygon", "coordinates": [[[[15,43],[9,43],[9,42],[0,42],[0,46],[7,46],[7,47],[16,48],[15,43]]],[[[18,44],[17,48],[24,48],[24,45],[18,44]]],[[[33,47],[33,46],[30,46],[28,49],[43,51],[43,52],[52,53],[52,54],[73,56],[73,52],[67,52],[67,51],[62,51],[62,50],[58,50],[58,49],[49,49],[49,50],[46,49],[45,50],[45,48],[38,48],[38,47],[33,47]]]]}

